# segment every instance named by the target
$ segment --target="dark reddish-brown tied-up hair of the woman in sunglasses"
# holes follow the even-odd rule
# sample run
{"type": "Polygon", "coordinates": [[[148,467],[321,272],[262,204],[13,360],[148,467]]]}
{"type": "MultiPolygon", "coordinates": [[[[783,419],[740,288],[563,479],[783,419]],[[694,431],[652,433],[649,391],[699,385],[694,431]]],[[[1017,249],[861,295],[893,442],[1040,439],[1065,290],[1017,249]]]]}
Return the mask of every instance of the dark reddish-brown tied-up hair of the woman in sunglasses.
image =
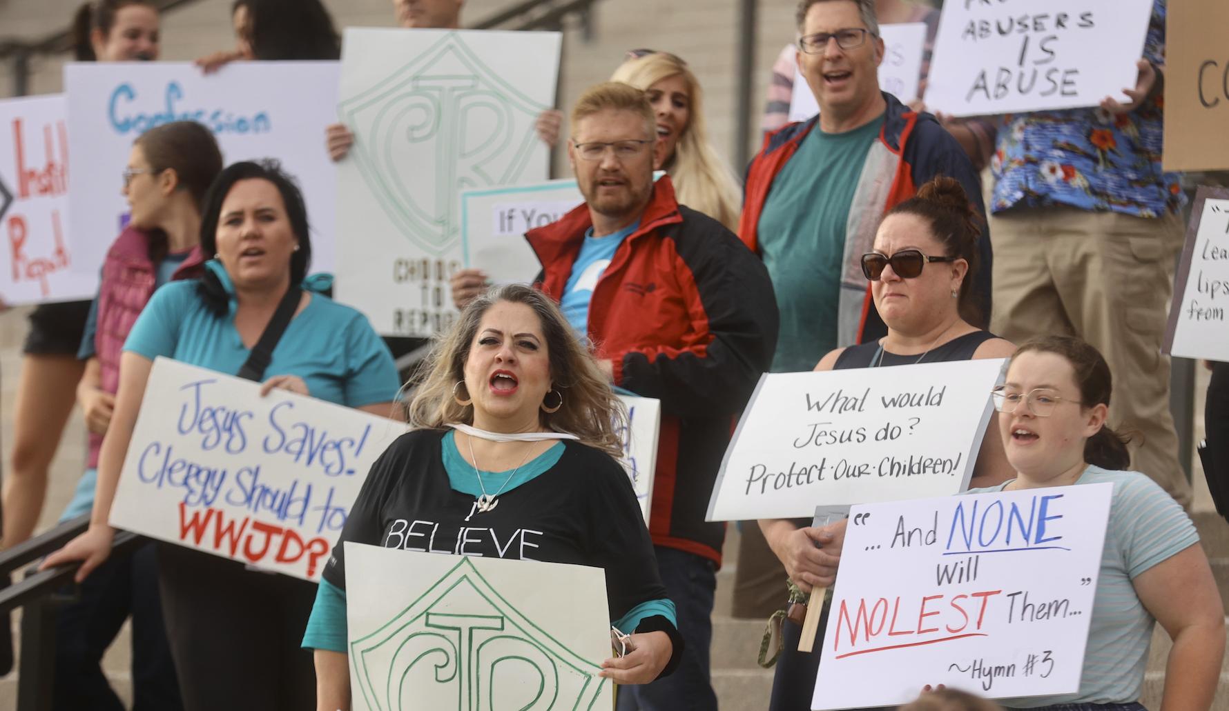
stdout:
{"type": "Polygon", "coordinates": [[[943,243],[944,257],[959,257],[968,263],[968,273],[960,282],[960,316],[968,323],[984,319],[973,296],[973,281],[981,268],[977,239],[982,235],[978,215],[968,193],[955,178],[935,176],[918,188],[917,195],[889,210],[890,215],[914,215],[930,226],[930,233],[943,243]]]}

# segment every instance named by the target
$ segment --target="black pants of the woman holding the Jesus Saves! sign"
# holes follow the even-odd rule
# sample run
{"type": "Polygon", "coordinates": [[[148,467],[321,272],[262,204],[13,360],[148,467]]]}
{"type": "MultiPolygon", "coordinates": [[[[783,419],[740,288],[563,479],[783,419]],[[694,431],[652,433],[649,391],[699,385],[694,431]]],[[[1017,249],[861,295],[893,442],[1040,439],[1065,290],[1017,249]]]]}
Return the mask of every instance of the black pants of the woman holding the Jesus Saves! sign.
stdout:
{"type": "Polygon", "coordinates": [[[159,546],[159,583],[186,711],[316,707],[300,647],[315,583],[172,544],[159,546]]]}

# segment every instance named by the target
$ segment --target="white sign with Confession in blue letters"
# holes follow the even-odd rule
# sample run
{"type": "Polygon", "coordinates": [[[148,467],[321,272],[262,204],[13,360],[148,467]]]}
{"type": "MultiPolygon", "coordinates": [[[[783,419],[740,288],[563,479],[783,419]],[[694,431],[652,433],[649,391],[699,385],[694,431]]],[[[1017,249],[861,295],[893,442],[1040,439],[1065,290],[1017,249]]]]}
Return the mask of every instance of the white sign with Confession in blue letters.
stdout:
{"type": "Polygon", "coordinates": [[[277,158],[299,183],[311,225],[311,271],[333,270],[336,178],[324,149],[334,123],[336,61],[236,61],[205,75],[190,63],[81,63],[68,95],[73,269],[96,275],[128,222],[120,173],[133,141],[175,120],[211,131],[226,165],[277,158]]]}

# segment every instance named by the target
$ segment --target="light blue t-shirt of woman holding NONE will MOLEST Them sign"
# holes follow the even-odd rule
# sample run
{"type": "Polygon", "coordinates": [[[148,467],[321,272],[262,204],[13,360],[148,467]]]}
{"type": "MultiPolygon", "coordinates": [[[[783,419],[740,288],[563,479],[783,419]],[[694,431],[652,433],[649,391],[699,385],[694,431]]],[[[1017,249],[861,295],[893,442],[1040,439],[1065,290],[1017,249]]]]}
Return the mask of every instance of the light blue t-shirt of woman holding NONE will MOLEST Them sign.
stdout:
{"type": "MultiPolygon", "coordinates": [[[[1197,544],[1200,535],[1182,507],[1148,476],[1138,472],[1109,472],[1090,464],[1075,481],[1077,485],[1102,483],[1113,484],[1113,499],[1079,691],[1061,696],[998,699],[1005,707],[1129,704],[1139,700],[1148,664],[1148,643],[1156,619],[1144,609],[1131,581],[1197,544]]],[[[1010,481],[970,489],[968,494],[1000,491],[1010,481]]]]}

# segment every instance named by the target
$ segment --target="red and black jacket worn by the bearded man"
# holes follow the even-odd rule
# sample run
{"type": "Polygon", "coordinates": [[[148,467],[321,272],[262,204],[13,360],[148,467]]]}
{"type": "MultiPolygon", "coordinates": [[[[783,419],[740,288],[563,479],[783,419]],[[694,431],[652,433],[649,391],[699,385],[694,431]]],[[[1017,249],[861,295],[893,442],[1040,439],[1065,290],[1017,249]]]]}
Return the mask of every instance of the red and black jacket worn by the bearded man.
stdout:
{"type": "MultiPolygon", "coordinates": [[[[525,236],[542,263],[535,286],[556,301],[591,226],[580,205],[525,236]]],[[[594,286],[589,339],[613,361],[614,384],[661,400],[653,543],[720,565],[725,524],[704,515],[732,425],[777,345],[768,271],[720,222],[678,205],[664,177],[594,286]]]]}

